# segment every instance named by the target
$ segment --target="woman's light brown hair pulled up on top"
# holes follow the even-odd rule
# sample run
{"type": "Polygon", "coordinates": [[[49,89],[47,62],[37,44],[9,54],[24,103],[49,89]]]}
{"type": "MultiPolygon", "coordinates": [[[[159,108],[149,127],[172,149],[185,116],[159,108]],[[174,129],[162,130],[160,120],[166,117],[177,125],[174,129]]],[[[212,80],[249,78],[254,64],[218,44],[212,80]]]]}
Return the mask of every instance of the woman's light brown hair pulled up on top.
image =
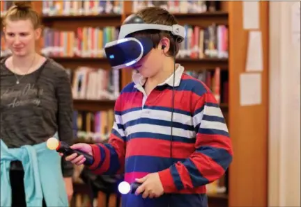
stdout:
{"type": "Polygon", "coordinates": [[[3,26],[6,26],[6,20],[18,21],[18,20],[31,20],[33,28],[40,28],[40,16],[31,7],[30,1],[15,1],[14,5],[11,6],[6,15],[2,19],[3,26]]]}

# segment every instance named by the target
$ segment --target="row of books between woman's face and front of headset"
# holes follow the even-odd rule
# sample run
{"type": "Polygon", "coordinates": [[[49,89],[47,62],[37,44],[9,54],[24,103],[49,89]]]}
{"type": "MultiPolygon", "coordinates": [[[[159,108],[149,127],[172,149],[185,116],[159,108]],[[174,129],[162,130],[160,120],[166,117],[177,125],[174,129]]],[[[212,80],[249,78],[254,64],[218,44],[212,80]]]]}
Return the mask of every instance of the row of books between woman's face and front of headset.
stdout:
{"type": "Polygon", "coordinates": [[[113,26],[83,27],[76,31],[45,28],[42,53],[45,56],[102,58],[105,57],[105,44],[116,40],[118,33],[118,28],[113,26]]]}

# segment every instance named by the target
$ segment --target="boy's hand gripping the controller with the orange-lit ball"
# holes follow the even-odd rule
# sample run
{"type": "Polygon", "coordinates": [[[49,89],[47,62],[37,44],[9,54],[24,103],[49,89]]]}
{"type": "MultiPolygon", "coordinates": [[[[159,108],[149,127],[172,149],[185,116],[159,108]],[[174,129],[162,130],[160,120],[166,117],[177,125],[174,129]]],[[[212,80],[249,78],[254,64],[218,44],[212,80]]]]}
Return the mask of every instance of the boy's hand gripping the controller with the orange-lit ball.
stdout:
{"type": "MultiPolygon", "coordinates": [[[[90,144],[78,143],[78,144],[73,144],[72,146],[70,146],[70,148],[83,151],[86,154],[90,154],[91,156],[93,156],[92,147],[90,146],[90,144]]],[[[60,156],[63,156],[63,154],[60,153],[60,156]]],[[[78,156],[76,153],[74,153],[70,156],[66,156],[65,160],[75,165],[82,165],[82,163],[84,163],[86,158],[84,158],[84,156],[82,155],[78,156]]]]}

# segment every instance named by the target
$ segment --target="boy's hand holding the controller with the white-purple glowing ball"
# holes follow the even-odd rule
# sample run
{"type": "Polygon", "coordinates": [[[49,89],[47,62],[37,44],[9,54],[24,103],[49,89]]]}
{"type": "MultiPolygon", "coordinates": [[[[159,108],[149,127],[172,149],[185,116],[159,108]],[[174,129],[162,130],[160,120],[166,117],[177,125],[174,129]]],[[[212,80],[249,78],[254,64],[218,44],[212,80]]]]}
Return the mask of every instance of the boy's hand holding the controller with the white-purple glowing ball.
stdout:
{"type": "Polygon", "coordinates": [[[164,193],[159,174],[157,172],[148,174],[141,179],[136,179],[137,183],[142,183],[136,190],[136,194],[142,194],[145,199],[147,197],[154,198],[160,197],[164,193]]]}

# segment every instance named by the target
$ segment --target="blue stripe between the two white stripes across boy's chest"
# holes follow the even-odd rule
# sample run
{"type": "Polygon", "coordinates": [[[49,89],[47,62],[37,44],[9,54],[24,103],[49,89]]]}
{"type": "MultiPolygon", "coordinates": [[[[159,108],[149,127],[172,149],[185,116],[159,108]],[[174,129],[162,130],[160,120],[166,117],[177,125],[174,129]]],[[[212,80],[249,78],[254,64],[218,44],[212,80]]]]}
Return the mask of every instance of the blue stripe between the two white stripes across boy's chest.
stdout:
{"type": "MultiPolygon", "coordinates": [[[[151,119],[151,118],[144,118],[141,117],[140,119],[134,119],[132,121],[126,122],[124,124],[125,129],[127,129],[130,126],[134,126],[137,124],[152,124],[152,125],[157,125],[157,126],[168,126],[171,127],[171,121],[165,121],[165,120],[160,120],[160,119],[151,119]]],[[[194,126],[188,125],[188,124],[182,124],[179,122],[172,122],[173,128],[178,128],[178,129],[183,129],[183,130],[189,130],[189,131],[194,131],[194,126]]]]}

